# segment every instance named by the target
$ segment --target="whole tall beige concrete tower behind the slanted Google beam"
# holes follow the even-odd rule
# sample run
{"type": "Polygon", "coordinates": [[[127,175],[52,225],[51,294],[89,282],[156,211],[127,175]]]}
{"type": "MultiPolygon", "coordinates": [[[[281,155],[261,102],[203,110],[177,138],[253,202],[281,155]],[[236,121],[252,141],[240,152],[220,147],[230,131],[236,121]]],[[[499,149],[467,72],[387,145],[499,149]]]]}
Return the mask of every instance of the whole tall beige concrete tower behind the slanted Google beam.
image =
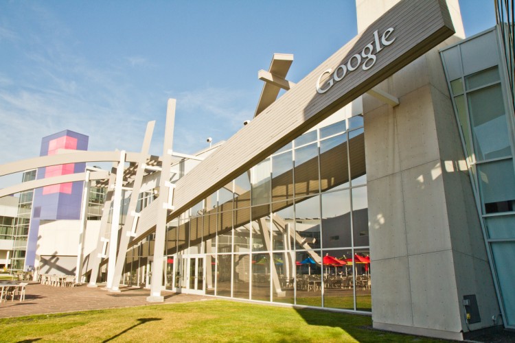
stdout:
{"type": "MultiPolygon", "coordinates": [[[[358,25],[377,3],[357,1],[358,25]]],[[[374,327],[461,340],[464,295],[481,312],[470,330],[491,326],[499,308],[437,49],[379,88],[400,105],[363,96],[374,327]]]]}

